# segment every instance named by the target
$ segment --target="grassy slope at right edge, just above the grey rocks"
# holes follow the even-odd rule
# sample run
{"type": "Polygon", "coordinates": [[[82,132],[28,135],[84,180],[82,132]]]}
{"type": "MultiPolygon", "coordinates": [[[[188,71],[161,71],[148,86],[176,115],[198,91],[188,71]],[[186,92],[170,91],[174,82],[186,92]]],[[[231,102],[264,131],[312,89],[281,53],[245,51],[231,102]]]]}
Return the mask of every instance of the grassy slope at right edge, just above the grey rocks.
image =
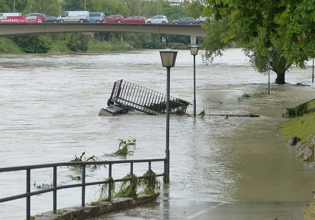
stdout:
{"type": "Polygon", "coordinates": [[[315,112],[292,118],[281,126],[284,138],[297,136],[301,143],[307,143],[309,134],[315,134],[315,112]]]}

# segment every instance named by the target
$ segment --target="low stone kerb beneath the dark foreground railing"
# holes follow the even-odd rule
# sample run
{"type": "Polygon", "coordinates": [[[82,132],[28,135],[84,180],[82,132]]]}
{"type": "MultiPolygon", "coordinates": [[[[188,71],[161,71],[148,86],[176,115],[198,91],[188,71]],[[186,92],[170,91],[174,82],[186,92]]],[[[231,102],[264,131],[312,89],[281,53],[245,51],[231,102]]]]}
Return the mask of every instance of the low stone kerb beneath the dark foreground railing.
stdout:
{"type": "MultiPolygon", "coordinates": [[[[158,197],[155,194],[139,194],[137,198],[115,198],[112,202],[101,202],[99,205],[85,207],[69,207],[59,209],[57,213],[53,211],[34,216],[35,220],[87,220],[100,215],[118,212],[121,210],[134,208],[136,206],[151,202],[158,197]]],[[[31,218],[32,219],[32,218],[31,218]]]]}

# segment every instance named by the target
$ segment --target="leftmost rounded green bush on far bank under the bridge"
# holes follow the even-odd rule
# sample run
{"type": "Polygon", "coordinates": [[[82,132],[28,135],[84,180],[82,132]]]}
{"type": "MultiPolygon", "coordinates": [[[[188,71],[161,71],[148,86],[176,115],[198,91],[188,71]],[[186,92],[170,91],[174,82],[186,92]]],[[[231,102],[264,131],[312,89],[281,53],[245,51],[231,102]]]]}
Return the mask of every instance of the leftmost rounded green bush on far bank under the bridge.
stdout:
{"type": "Polygon", "coordinates": [[[27,53],[47,53],[52,46],[47,34],[15,36],[13,40],[27,53]]]}

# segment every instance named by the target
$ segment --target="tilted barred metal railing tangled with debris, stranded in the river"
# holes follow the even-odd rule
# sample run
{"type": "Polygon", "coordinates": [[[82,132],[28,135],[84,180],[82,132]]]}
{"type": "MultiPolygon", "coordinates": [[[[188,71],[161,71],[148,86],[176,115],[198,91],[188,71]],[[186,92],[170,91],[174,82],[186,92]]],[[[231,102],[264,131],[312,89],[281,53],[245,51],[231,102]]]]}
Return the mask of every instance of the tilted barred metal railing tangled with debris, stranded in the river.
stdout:
{"type": "MultiPolygon", "coordinates": [[[[107,101],[107,105],[110,104],[123,105],[150,115],[166,114],[166,94],[122,79],[114,83],[111,97],[107,101]]],[[[188,106],[188,101],[170,97],[170,114],[183,115],[188,106]]]]}

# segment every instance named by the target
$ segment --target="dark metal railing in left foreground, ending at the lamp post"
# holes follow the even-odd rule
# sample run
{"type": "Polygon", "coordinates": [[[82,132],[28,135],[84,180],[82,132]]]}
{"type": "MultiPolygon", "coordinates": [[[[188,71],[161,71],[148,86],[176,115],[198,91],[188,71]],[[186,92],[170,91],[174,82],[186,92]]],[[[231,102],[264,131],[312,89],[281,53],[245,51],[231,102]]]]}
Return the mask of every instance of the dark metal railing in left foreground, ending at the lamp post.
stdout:
{"type": "MultiPolygon", "coordinates": [[[[81,187],[82,191],[82,199],[81,199],[81,206],[85,206],[85,187],[86,186],[93,186],[93,185],[100,185],[100,184],[108,184],[108,197],[111,196],[111,188],[113,182],[123,182],[123,181],[130,181],[130,178],[123,178],[123,179],[116,179],[113,181],[104,180],[104,181],[97,181],[97,182],[89,182],[86,183],[86,166],[88,165],[108,165],[108,179],[112,178],[112,165],[113,164],[120,164],[120,163],[130,163],[130,175],[133,175],[133,163],[148,163],[148,172],[151,172],[151,162],[158,162],[164,161],[164,173],[156,174],[157,177],[165,176],[165,167],[166,167],[166,159],[159,158],[159,159],[138,159],[138,160],[113,160],[113,161],[91,161],[91,162],[63,162],[63,163],[49,163],[49,164],[40,164],[40,165],[30,165],[30,166],[16,166],[16,167],[7,167],[7,168],[0,168],[0,173],[2,172],[12,172],[12,171],[26,171],[26,193],[12,195],[9,197],[0,198],[0,203],[12,201],[20,198],[26,198],[26,219],[31,219],[31,196],[43,194],[46,192],[53,192],[53,212],[57,212],[57,191],[60,189],[67,189],[67,188],[77,188],[81,187]],[[57,186],[57,167],[63,166],[82,166],[82,183],[81,184],[71,184],[65,186],[57,186]],[[41,189],[36,191],[31,191],[31,170],[33,169],[41,169],[41,168],[53,168],[53,187],[49,189],[41,189]]],[[[137,177],[137,179],[145,179],[149,178],[149,176],[141,176],[137,177]]],[[[165,178],[164,178],[165,179],[165,178]]]]}

